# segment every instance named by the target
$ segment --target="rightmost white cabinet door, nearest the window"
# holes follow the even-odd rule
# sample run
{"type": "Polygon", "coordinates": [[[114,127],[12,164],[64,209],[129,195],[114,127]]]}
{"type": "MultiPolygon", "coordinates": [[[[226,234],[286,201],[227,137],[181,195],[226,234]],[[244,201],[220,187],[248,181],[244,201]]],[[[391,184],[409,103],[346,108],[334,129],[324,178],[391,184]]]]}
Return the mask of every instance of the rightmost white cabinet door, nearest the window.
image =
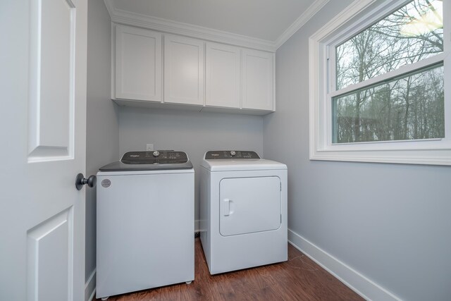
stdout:
{"type": "Polygon", "coordinates": [[[242,109],[274,109],[274,54],[243,49],[242,109]]]}

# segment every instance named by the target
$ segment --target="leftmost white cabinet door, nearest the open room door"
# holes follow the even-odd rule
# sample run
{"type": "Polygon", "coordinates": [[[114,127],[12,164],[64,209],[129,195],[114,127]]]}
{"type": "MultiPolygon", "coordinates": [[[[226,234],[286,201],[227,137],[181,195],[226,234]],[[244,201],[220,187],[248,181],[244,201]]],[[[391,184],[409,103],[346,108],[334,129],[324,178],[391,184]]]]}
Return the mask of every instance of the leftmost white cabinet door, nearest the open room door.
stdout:
{"type": "Polygon", "coordinates": [[[116,25],[116,99],[161,102],[161,33],[116,25]]]}

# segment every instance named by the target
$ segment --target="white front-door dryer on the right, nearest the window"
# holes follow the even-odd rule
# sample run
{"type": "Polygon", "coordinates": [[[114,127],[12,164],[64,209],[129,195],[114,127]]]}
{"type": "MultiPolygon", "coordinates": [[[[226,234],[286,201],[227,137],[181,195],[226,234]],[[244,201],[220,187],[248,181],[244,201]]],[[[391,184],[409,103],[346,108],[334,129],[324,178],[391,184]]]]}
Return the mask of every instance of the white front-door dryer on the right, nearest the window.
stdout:
{"type": "Polygon", "coordinates": [[[206,152],[200,197],[210,274],[287,260],[285,164],[249,151],[206,152]]]}

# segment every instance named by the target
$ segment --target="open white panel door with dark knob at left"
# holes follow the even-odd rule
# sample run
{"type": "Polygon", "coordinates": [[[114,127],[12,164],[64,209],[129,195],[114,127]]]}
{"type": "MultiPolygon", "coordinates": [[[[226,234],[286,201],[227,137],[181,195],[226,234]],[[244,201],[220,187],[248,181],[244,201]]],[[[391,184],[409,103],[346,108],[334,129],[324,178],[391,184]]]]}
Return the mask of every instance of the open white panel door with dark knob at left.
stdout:
{"type": "Polygon", "coordinates": [[[87,0],[0,11],[0,300],[84,300],[87,0]]]}

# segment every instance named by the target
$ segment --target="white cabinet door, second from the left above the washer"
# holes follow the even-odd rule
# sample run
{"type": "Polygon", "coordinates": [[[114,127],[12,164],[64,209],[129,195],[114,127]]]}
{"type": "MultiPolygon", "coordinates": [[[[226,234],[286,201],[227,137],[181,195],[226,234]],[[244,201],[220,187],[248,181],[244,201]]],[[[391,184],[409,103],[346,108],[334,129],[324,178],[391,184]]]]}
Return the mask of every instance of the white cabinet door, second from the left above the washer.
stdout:
{"type": "Polygon", "coordinates": [[[164,36],[164,102],[204,104],[204,42],[164,36]]]}

